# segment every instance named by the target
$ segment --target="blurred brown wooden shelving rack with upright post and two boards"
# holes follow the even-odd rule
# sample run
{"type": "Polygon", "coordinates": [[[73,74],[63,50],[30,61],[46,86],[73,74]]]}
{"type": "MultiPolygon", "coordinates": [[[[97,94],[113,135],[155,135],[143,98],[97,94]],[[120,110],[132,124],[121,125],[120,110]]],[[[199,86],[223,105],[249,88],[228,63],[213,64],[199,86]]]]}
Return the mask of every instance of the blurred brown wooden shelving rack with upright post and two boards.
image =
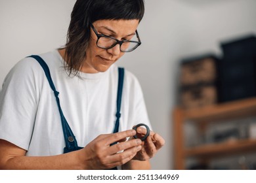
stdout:
{"type": "Polygon", "coordinates": [[[173,110],[174,168],[186,169],[186,158],[189,157],[205,162],[218,156],[256,152],[256,139],[205,144],[192,148],[184,146],[184,124],[188,120],[196,123],[203,131],[205,126],[212,122],[224,122],[249,116],[256,116],[256,97],[189,110],[176,107],[173,110]]]}

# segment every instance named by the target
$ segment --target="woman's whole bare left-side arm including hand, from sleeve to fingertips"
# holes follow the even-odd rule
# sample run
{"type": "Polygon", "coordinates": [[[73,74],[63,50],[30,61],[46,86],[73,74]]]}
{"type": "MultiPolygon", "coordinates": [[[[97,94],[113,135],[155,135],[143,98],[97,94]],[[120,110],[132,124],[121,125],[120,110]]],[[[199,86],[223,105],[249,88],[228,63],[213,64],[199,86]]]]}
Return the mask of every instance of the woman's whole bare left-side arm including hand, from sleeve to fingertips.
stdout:
{"type": "Polygon", "coordinates": [[[26,150],[0,139],[0,169],[111,169],[131,161],[141,141],[123,141],[136,134],[127,130],[99,135],[85,148],[57,156],[26,156],[26,150]],[[119,144],[110,146],[113,142],[119,144]],[[117,154],[123,150],[121,154],[117,154]]]}

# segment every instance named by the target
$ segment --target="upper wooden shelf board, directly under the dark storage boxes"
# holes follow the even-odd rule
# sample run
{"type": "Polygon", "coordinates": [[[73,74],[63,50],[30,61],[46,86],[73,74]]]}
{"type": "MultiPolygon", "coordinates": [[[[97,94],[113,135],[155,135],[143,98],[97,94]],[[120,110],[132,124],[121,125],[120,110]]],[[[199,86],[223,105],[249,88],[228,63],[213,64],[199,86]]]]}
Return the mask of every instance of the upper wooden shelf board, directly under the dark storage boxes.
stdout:
{"type": "Polygon", "coordinates": [[[194,122],[232,120],[244,116],[256,116],[256,97],[184,110],[184,119],[194,122]]]}

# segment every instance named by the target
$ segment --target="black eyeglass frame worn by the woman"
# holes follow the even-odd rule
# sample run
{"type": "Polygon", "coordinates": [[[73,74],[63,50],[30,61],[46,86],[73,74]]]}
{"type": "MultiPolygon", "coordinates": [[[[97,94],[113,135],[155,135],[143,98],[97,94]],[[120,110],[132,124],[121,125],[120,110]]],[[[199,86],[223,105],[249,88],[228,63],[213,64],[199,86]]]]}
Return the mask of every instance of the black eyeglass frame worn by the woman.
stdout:
{"type": "Polygon", "coordinates": [[[93,31],[95,32],[95,35],[97,37],[97,41],[96,41],[96,45],[98,46],[98,39],[100,39],[100,37],[106,37],[106,38],[110,38],[110,39],[114,39],[116,41],[115,44],[113,44],[112,46],[108,47],[108,48],[104,48],[102,46],[98,46],[98,48],[102,48],[102,49],[110,49],[110,48],[113,48],[114,46],[116,46],[116,44],[119,44],[120,45],[120,51],[121,52],[132,52],[133,50],[135,50],[136,48],[138,48],[138,46],[140,46],[141,42],[140,42],[140,37],[139,37],[139,34],[138,34],[138,31],[136,30],[135,33],[136,33],[136,36],[137,36],[137,39],[138,41],[128,41],[128,40],[123,40],[123,41],[119,41],[118,39],[114,38],[114,37],[111,37],[111,36],[108,36],[108,35],[104,35],[104,34],[99,34],[95,27],[93,26],[93,24],[91,24],[91,28],[93,29],[93,31]],[[137,46],[135,46],[132,50],[128,50],[128,51],[123,51],[121,50],[121,45],[123,44],[123,42],[135,42],[137,43],[137,46]]]}

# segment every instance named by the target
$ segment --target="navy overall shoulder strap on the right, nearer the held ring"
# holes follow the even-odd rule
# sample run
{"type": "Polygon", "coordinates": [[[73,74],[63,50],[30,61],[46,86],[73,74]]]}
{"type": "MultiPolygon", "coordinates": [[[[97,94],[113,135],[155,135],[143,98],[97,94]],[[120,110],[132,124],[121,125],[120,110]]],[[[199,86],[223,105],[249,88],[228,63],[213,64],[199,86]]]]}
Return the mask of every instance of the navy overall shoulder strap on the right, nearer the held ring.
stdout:
{"type": "Polygon", "coordinates": [[[123,78],[125,69],[118,67],[118,88],[117,88],[117,100],[116,100],[116,124],[113,133],[117,133],[119,129],[119,118],[121,117],[121,97],[123,92],[123,78]]]}

